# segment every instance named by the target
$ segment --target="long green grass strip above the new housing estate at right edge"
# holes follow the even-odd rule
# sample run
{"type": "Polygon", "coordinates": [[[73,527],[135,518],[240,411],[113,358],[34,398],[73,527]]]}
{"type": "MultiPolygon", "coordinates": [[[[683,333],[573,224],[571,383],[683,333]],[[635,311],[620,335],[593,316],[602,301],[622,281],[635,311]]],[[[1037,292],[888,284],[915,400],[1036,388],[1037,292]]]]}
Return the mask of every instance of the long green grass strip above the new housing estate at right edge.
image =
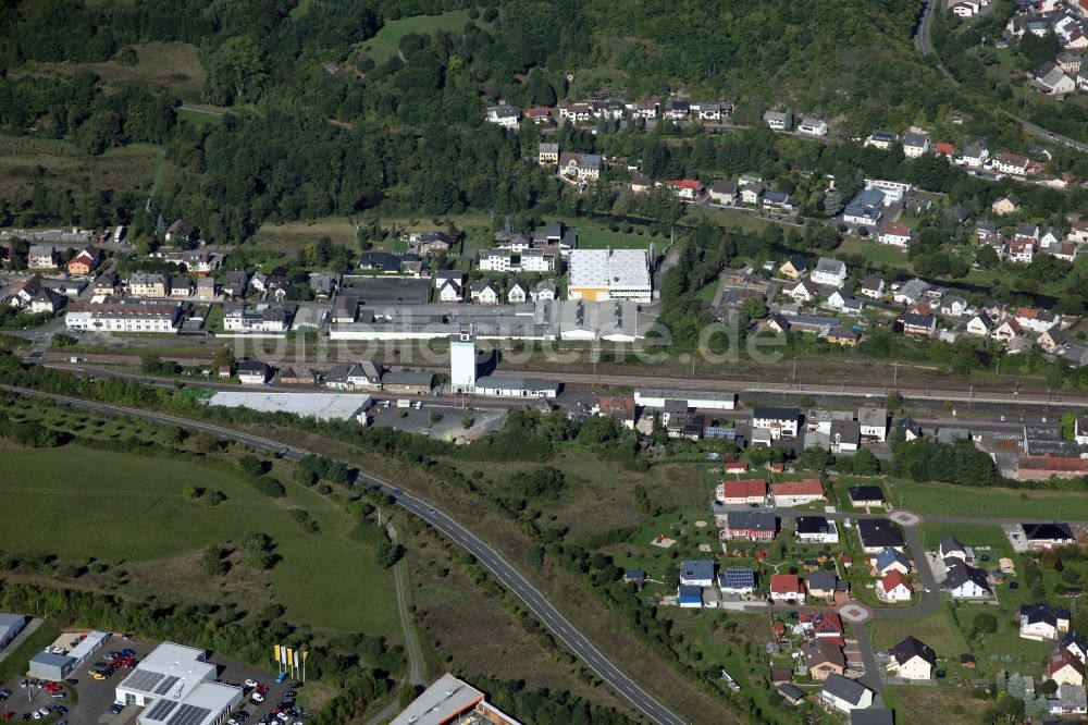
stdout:
{"type": "Polygon", "coordinates": [[[923,515],[1088,520],[1088,494],[1072,491],[970,488],[899,479],[887,490],[894,506],[923,515]]]}

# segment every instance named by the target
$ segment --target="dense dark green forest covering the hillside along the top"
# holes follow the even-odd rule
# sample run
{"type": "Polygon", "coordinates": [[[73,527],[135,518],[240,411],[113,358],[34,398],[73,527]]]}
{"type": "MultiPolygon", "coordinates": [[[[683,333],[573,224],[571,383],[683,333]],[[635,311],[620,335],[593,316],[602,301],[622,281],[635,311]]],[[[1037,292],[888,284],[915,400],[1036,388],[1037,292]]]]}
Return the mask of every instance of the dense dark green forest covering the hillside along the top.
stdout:
{"type": "MultiPolygon", "coordinates": [[[[954,89],[911,46],[920,0],[30,0],[0,8],[0,128],[64,139],[88,155],[135,143],[165,148],[152,212],[184,216],[207,238],[238,241],[265,221],[351,214],[555,211],[559,189],[523,161],[535,134],[483,122],[500,100],[551,105],[591,95],[725,98],[758,122],[770,105],[836,119],[848,131],[943,116],[954,89]],[[391,53],[368,40],[408,15],[460,10],[462,23],[409,32],[391,53]],[[199,49],[199,97],[153,84],[119,88],[81,64],[132,64],[151,41],[199,49]],[[376,60],[375,60],[376,59],[376,60]],[[41,69],[48,65],[50,74],[41,69]],[[71,69],[66,76],[59,73],[71,69]],[[223,107],[221,123],[177,123],[171,103],[223,107]]],[[[129,84],[132,85],[132,84],[129,84]]],[[[605,131],[608,131],[607,128],[605,131]]],[[[618,137],[634,132],[626,131],[618,137]]],[[[565,148],[641,142],[574,134],[565,148]]],[[[678,164],[677,164],[678,165],[678,164]]],[[[48,170],[46,170],[48,172],[48,170]]],[[[682,171],[682,169],[677,169],[682,171]]],[[[81,199],[48,173],[0,222],[96,223],[124,192],[81,199]],[[103,201],[103,198],[106,199],[103,201]]],[[[578,204],[593,204],[592,199],[578,204]]],[[[124,206],[124,205],[123,205],[124,206]]]]}

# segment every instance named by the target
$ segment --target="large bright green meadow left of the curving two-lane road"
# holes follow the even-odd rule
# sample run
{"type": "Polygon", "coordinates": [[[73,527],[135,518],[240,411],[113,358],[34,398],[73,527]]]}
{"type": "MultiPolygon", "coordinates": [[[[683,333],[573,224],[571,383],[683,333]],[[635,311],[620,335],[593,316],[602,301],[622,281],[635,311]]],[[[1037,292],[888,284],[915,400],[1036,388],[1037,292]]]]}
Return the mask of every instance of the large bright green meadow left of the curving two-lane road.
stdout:
{"type": "MultiPolygon", "coordinates": [[[[373,560],[381,532],[370,526],[356,529],[346,513],[310,489],[284,481],[287,496],[269,499],[240,479],[202,466],[75,445],[0,448],[0,495],[9,512],[0,549],[184,569],[180,574],[186,579],[200,581],[203,575],[188,569],[198,566],[208,544],[262,531],[283,557],[271,573],[272,591],[290,619],[392,638],[399,631],[392,576],[373,560]],[[227,500],[215,507],[189,501],[183,495],[189,484],[219,489],[227,500]],[[292,508],[309,512],[320,533],[305,533],[292,520],[292,508]]],[[[246,576],[245,567],[226,575],[239,576],[246,576]]]]}

